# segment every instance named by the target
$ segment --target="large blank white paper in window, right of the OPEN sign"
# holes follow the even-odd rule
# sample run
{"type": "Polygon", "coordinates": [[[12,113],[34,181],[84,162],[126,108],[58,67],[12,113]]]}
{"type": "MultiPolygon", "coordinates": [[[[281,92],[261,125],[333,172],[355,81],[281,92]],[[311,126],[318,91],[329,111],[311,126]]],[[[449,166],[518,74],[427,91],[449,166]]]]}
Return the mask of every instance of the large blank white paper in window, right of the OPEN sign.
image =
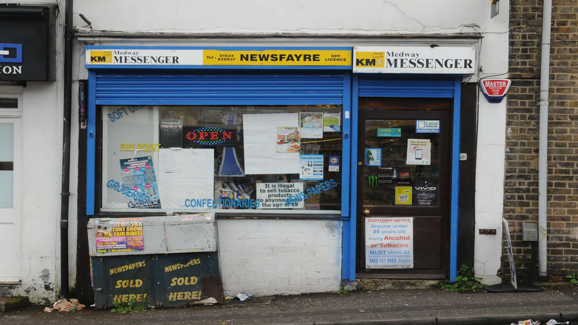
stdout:
{"type": "Polygon", "coordinates": [[[277,127],[299,127],[299,114],[243,114],[245,174],[299,173],[299,153],[277,152],[277,127]]]}

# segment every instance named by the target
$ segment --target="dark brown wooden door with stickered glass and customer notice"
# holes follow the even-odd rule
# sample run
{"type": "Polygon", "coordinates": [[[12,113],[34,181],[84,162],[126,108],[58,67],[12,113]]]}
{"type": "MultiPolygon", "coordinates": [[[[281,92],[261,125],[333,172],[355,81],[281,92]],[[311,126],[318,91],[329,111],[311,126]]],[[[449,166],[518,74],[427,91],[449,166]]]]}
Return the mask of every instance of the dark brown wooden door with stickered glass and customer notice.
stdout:
{"type": "Polygon", "coordinates": [[[447,278],[451,125],[451,102],[447,99],[360,100],[357,276],[447,278]],[[439,131],[433,128],[424,132],[424,121],[429,121],[428,125],[438,121],[439,131]],[[380,150],[380,161],[373,157],[379,155],[376,149],[380,150]],[[367,263],[365,223],[366,218],[375,217],[412,220],[411,267],[367,263]]]}

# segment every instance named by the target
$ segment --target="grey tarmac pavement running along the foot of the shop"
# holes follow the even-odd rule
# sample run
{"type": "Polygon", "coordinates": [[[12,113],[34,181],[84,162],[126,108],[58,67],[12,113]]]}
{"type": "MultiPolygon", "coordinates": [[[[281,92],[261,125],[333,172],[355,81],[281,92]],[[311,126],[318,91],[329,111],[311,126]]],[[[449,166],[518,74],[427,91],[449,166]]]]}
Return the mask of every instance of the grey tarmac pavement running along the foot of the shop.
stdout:
{"type": "Polygon", "coordinates": [[[542,324],[546,324],[550,317],[557,316],[559,321],[562,318],[578,320],[578,286],[546,287],[546,290],[538,293],[487,293],[484,290],[449,293],[436,289],[355,291],[343,296],[317,293],[255,297],[224,305],[158,308],[126,314],[96,311],[92,308],[78,312],[50,313],[43,312],[43,308],[28,308],[0,313],[0,322],[7,325],[502,325],[528,318],[536,320],[536,317],[539,317],[542,324]]]}

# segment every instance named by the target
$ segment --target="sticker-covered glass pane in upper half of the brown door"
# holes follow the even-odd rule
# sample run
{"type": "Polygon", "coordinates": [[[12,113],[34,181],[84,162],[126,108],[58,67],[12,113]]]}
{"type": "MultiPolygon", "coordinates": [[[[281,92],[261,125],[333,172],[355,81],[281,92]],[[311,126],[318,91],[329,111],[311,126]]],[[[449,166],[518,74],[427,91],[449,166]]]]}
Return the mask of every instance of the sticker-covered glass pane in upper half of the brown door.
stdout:
{"type": "Polygon", "coordinates": [[[438,206],[439,133],[365,120],[364,205],[438,206]]]}

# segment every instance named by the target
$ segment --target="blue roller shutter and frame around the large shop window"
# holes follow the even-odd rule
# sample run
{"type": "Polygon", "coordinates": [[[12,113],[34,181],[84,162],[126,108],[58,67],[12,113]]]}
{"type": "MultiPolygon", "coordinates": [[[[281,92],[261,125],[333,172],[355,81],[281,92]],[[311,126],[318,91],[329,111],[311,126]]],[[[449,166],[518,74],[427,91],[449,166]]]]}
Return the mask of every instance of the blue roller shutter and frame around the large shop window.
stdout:
{"type": "MultiPolygon", "coordinates": [[[[88,46],[87,49],[201,49],[200,47],[111,47],[111,46],[88,46]]],[[[207,49],[203,47],[202,49],[207,49]]],[[[279,49],[272,47],[215,47],[213,49],[223,50],[265,50],[279,49]]],[[[350,47],[283,47],[282,49],[317,49],[317,50],[351,50],[350,47]]],[[[88,123],[87,123],[87,189],[86,189],[86,214],[94,215],[95,212],[95,188],[97,180],[95,179],[95,161],[98,158],[96,151],[96,141],[99,135],[96,134],[97,105],[300,105],[300,104],[339,104],[343,105],[343,153],[342,153],[342,206],[341,219],[349,217],[349,166],[350,166],[350,146],[351,146],[351,76],[344,69],[347,67],[142,67],[133,65],[123,65],[111,67],[110,65],[87,65],[88,71],[88,123]],[[188,69],[187,69],[188,68],[188,69]],[[192,70],[191,68],[194,68],[192,70]],[[182,94],[172,86],[182,85],[185,80],[193,80],[195,76],[208,75],[209,68],[216,69],[211,72],[210,76],[221,76],[221,82],[217,87],[226,89],[235,86],[235,77],[247,75],[254,77],[256,83],[261,83],[261,91],[255,92],[254,86],[241,89],[241,95],[223,96],[216,94],[218,91],[208,91],[204,95],[198,89],[190,90],[189,95],[182,94]],[[282,68],[282,69],[280,69],[282,68]],[[253,71],[247,71],[253,69],[253,71]],[[275,73],[269,72],[276,69],[275,73]],[[335,71],[328,71],[335,70],[335,71]],[[135,72],[136,71],[136,72],[135,72]],[[128,82],[131,84],[127,87],[127,80],[135,75],[139,75],[138,80],[128,82]],[[228,76],[228,77],[227,77],[228,76]],[[304,90],[304,86],[288,86],[280,88],[268,88],[267,84],[273,85],[276,82],[283,81],[284,77],[291,77],[293,81],[298,76],[302,76],[303,83],[312,80],[313,77],[323,77],[330,80],[329,85],[312,87],[310,90],[304,90]],[[148,78],[148,79],[147,79],[148,78]],[[171,85],[171,79],[173,78],[171,85]],[[175,80],[176,83],[175,83],[175,80]],[[269,80],[269,83],[267,83],[269,80]],[[331,81],[332,80],[332,81],[331,81]],[[339,80],[339,82],[336,82],[339,80]],[[147,84],[146,82],[149,81],[147,84]],[[163,84],[163,82],[166,82],[163,84]],[[263,83],[264,82],[264,83],[263,83]],[[138,84],[137,87],[134,87],[138,84]],[[169,91],[167,91],[169,89],[169,91]],[[171,91],[172,89],[172,91],[171,91]]],[[[217,78],[218,79],[218,78],[217,78]]],[[[206,80],[206,79],[205,79],[206,80]]],[[[235,86],[238,88],[238,86],[235,86]]],[[[226,93],[226,91],[224,92],[226,93]]],[[[298,211],[295,211],[298,213],[298,211]]]]}

